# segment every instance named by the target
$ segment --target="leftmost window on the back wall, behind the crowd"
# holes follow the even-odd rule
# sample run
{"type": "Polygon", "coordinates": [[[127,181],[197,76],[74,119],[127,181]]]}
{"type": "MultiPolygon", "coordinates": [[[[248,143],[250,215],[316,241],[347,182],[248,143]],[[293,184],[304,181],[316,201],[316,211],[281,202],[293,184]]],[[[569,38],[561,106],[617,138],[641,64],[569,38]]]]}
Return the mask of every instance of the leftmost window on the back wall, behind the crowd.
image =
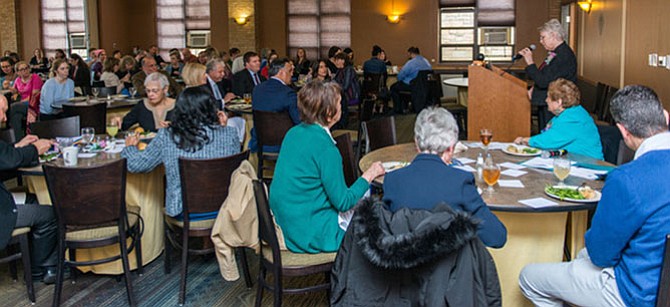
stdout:
{"type": "Polygon", "coordinates": [[[42,0],[42,46],[45,56],[56,49],[87,57],[86,7],[84,0],[42,0]]]}

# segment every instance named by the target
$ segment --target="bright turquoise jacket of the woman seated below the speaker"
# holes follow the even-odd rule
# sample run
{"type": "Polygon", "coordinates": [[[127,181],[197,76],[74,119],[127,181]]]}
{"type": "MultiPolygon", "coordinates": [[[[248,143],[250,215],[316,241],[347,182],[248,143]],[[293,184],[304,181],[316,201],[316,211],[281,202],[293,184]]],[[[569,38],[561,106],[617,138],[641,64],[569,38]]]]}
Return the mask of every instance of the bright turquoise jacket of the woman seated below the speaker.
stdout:
{"type": "Polygon", "coordinates": [[[570,153],[603,159],[598,128],[582,106],[567,108],[552,118],[547,129],[528,144],[541,149],[565,149],[570,153]]]}

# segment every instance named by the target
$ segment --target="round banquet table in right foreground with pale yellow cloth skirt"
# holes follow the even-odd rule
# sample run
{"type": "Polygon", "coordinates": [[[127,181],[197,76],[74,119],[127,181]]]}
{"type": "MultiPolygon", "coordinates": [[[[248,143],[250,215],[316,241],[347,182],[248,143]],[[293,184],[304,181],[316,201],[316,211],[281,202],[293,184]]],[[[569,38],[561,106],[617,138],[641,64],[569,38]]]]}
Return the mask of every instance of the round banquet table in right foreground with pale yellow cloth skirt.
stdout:
{"type": "MultiPolygon", "coordinates": [[[[477,159],[482,149],[472,148],[457,153],[455,158],[477,159]]],[[[518,163],[530,157],[517,157],[503,153],[501,150],[490,150],[495,163],[518,163]]],[[[414,143],[399,144],[377,149],[363,156],[359,161],[361,170],[366,170],[375,161],[411,162],[417,155],[414,143]]],[[[592,158],[568,155],[568,158],[581,163],[611,166],[607,162],[592,158]]],[[[474,163],[468,164],[475,168],[474,163]]],[[[584,233],[587,230],[587,210],[595,208],[595,203],[570,203],[549,198],[544,194],[546,184],[555,184],[557,179],[547,170],[525,168],[528,173],[511,178],[504,175],[501,179],[518,179],[525,188],[502,188],[496,185],[495,192],[483,192],[482,198],[493,213],[507,228],[507,243],[503,248],[489,248],[496,262],[503,306],[532,306],[519,290],[519,273],[529,263],[561,262],[564,250],[570,251],[574,259],[584,247],[584,233]],[[544,197],[558,203],[558,206],[534,209],[519,203],[519,200],[544,197]]],[[[602,190],[603,182],[586,180],[570,176],[567,185],[580,185],[586,182],[594,189],[602,190]]],[[[383,185],[384,178],[375,180],[376,185],[383,185]]],[[[482,183],[483,184],[483,183],[482,183]]],[[[484,185],[480,185],[485,189],[484,185]]]]}

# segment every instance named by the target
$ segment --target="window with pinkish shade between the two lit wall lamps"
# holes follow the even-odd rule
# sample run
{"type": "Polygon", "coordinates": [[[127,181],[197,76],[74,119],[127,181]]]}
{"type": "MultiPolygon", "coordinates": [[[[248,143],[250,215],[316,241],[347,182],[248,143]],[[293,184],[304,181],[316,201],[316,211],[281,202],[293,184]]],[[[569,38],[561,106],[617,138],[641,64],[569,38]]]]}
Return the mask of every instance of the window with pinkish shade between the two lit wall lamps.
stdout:
{"type": "Polygon", "coordinates": [[[311,59],[325,57],[331,46],[351,45],[350,0],[288,0],[288,50],[304,48],[311,59]]]}

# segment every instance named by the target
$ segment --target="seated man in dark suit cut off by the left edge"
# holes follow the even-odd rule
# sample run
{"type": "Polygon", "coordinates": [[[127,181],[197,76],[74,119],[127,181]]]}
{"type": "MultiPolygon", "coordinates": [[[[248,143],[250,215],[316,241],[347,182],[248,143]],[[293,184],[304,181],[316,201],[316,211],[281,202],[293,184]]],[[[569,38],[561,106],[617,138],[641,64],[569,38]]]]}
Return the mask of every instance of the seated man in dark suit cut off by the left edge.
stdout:
{"type": "MultiPolygon", "coordinates": [[[[7,100],[0,96],[0,123],[7,120],[7,100]]],[[[51,147],[52,142],[28,135],[12,145],[0,141],[0,170],[12,170],[38,163],[38,156],[51,147]]],[[[52,206],[37,204],[16,205],[12,193],[0,182],[0,249],[11,239],[14,228],[31,228],[33,276],[44,276],[51,284],[56,280],[56,254],[58,226],[52,206]]]]}

